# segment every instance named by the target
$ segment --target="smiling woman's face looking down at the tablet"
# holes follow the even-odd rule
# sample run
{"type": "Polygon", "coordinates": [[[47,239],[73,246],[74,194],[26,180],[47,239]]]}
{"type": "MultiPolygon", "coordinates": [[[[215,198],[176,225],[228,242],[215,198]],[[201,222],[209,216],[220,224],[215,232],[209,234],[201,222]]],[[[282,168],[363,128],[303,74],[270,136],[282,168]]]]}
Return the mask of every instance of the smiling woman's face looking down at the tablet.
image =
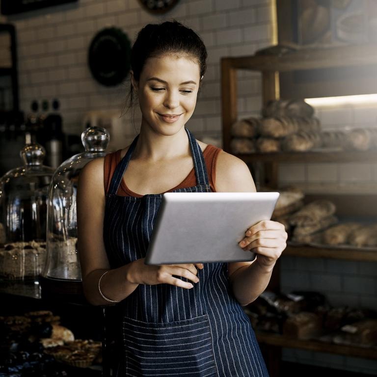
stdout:
{"type": "Polygon", "coordinates": [[[149,58],[133,85],[142,113],[142,127],[162,135],[177,133],[191,117],[199,90],[199,64],[183,55],[149,58]]]}

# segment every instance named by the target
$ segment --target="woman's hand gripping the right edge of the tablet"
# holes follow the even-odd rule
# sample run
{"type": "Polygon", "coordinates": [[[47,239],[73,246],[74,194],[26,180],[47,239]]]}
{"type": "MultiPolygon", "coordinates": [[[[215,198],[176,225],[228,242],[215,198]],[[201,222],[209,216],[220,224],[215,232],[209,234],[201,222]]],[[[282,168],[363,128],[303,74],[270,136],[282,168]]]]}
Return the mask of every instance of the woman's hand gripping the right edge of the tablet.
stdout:
{"type": "Polygon", "coordinates": [[[246,237],[239,242],[243,250],[257,253],[257,260],[264,267],[273,267],[287,246],[288,234],[283,224],[263,220],[245,232],[246,237]]]}

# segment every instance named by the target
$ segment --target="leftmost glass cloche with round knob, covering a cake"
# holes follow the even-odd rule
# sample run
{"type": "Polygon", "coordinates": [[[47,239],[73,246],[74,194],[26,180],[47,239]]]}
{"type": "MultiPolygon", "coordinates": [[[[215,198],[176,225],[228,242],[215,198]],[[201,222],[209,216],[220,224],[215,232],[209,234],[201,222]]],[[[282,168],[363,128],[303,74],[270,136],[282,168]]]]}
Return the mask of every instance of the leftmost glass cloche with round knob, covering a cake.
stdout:
{"type": "Polygon", "coordinates": [[[28,144],[24,165],[0,179],[0,276],[37,280],[46,256],[48,191],[54,169],[43,165],[45,149],[28,144]]]}

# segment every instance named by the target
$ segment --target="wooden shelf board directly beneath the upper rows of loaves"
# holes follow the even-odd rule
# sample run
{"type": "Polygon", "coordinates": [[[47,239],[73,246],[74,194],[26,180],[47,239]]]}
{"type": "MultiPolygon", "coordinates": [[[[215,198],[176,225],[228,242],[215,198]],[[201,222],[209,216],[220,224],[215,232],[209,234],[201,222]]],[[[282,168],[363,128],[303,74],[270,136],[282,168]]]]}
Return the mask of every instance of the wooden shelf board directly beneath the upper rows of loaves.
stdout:
{"type": "Polygon", "coordinates": [[[244,162],[377,162],[377,150],[339,152],[274,152],[236,155],[244,162]]]}

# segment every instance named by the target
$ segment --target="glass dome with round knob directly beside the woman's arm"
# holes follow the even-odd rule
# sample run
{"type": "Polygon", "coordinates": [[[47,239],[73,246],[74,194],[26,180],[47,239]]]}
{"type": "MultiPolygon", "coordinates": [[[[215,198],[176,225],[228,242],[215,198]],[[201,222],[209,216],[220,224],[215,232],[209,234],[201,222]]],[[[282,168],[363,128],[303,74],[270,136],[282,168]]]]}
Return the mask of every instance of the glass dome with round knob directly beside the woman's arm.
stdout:
{"type": "Polygon", "coordinates": [[[49,189],[47,210],[47,256],[44,278],[81,280],[77,253],[77,185],[81,169],[89,161],[106,155],[108,131],[89,127],[81,134],[85,152],[63,162],[49,189]]]}

